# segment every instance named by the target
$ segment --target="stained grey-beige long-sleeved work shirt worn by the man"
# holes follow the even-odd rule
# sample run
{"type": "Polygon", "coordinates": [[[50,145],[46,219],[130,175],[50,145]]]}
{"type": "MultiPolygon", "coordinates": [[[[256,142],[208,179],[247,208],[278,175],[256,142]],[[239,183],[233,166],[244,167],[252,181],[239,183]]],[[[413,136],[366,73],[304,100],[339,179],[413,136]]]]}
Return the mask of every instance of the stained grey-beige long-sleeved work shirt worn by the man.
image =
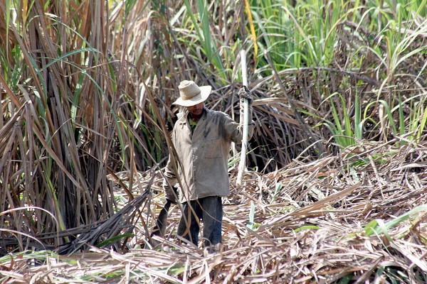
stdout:
{"type": "MultiPolygon", "coordinates": [[[[252,108],[249,107],[248,139],[253,135],[255,123],[252,121],[252,108]]],[[[169,154],[165,170],[165,185],[175,185],[174,164],[181,178],[179,202],[197,200],[208,196],[227,196],[230,194],[228,179],[228,156],[231,142],[241,143],[243,125],[233,121],[221,111],[204,108],[204,113],[191,131],[189,112],[176,121],[172,131],[172,142],[176,148],[179,162],[169,154]]],[[[241,108],[241,121],[243,110],[241,108]]],[[[172,153],[172,151],[169,151],[172,153]]],[[[170,190],[170,187],[165,187],[170,190]]],[[[168,192],[167,192],[168,195],[168,192]]]]}

